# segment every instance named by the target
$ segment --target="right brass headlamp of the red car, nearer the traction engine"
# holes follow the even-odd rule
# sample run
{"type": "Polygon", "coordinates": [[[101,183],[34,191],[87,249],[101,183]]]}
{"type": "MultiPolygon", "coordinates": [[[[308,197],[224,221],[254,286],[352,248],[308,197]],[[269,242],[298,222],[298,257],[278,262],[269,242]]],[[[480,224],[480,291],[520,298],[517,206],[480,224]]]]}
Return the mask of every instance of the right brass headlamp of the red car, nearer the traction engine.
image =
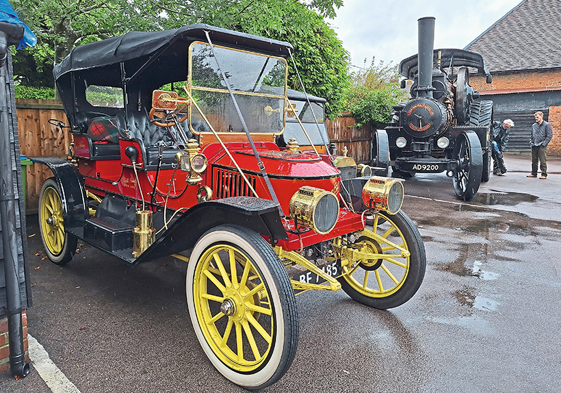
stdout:
{"type": "Polygon", "coordinates": [[[396,214],[403,204],[404,189],[399,180],[373,176],[363,187],[363,203],[370,209],[396,214]]]}

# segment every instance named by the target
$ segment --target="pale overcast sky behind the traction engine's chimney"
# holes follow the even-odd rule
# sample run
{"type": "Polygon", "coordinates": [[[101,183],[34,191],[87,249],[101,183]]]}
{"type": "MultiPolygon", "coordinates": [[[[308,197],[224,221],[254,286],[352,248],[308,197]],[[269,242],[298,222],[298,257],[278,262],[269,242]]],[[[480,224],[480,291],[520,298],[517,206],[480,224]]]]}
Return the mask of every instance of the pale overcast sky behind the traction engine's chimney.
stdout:
{"type": "Polygon", "coordinates": [[[464,48],[521,0],[344,0],[328,21],[355,66],[393,64],[417,53],[417,19],[436,17],[434,48],[464,48]]]}

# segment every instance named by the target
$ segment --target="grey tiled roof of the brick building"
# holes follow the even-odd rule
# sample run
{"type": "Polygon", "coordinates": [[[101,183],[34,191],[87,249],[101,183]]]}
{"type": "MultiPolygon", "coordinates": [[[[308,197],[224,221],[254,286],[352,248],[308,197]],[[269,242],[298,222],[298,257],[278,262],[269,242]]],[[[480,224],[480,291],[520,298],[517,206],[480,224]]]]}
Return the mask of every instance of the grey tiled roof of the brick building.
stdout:
{"type": "Polygon", "coordinates": [[[523,0],[465,49],[491,73],[561,67],[561,0],[523,0]]]}

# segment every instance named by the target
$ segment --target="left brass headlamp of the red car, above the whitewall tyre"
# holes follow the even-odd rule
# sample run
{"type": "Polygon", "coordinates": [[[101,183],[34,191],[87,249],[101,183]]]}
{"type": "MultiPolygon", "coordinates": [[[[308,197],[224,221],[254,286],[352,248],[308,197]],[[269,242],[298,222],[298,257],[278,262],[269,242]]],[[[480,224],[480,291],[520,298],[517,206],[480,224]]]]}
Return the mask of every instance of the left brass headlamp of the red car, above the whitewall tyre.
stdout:
{"type": "Polygon", "coordinates": [[[289,216],[295,225],[304,225],[324,235],[337,224],[339,201],[332,192],[302,186],[290,199],[289,216]]]}

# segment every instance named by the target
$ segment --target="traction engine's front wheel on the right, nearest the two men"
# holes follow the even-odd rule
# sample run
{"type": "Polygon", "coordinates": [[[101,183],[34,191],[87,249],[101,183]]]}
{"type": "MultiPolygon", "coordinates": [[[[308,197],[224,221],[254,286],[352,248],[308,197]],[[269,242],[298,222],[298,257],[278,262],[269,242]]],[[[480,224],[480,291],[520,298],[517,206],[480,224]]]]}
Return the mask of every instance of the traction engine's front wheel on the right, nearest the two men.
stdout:
{"type": "Polygon", "coordinates": [[[477,134],[463,131],[456,140],[454,157],[457,157],[458,170],[452,177],[456,195],[464,201],[471,201],[479,190],[483,169],[483,155],[477,134]]]}

